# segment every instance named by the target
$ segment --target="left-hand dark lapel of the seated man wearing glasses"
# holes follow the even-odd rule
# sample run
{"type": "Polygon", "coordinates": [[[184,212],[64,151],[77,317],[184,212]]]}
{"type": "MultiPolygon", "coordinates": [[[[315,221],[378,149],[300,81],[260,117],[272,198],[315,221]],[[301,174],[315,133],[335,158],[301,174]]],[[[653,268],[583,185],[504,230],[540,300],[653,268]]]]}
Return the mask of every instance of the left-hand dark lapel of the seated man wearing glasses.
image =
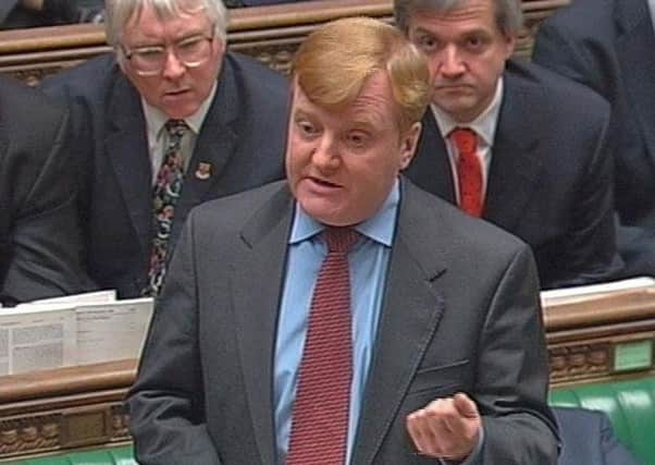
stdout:
{"type": "Polygon", "coordinates": [[[152,194],[146,123],[137,90],[120,76],[108,97],[104,152],[113,167],[121,195],[143,250],[150,249],[152,194]]]}

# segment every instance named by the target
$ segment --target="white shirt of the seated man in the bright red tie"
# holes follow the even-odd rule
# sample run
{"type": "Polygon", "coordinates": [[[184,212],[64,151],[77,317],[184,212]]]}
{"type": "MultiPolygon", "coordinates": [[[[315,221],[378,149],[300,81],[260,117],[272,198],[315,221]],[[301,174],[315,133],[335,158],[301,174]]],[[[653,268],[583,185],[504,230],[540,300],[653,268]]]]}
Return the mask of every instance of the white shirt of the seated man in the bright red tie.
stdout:
{"type": "MultiPolygon", "coordinates": [[[[655,0],[654,0],[655,1],[655,0]]],[[[457,161],[459,154],[453,140],[448,138],[448,134],[456,127],[469,127],[475,131],[478,134],[478,158],[482,167],[482,194],[486,193],[486,181],[489,178],[489,168],[491,167],[492,159],[492,147],[494,145],[494,135],[496,134],[496,126],[498,124],[498,115],[500,113],[500,102],[503,101],[503,76],[498,78],[496,85],[496,93],[494,98],[489,103],[489,107],[480,113],[470,123],[460,124],[457,123],[448,113],[440,109],[436,105],[431,105],[432,113],[436,120],[438,131],[446,143],[446,149],[448,150],[448,159],[450,161],[450,171],[453,173],[453,186],[455,187],[455,197],[459,203],[459,181],[457,178],[457,161]]]]}

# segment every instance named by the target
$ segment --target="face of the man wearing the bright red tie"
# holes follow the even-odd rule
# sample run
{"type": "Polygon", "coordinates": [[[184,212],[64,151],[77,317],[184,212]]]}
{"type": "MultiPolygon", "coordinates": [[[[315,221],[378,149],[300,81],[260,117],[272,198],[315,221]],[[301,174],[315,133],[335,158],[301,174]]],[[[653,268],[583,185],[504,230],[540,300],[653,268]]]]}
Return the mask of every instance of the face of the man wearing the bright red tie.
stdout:
{"type": "Polygon", "coordinates": [[[432,102],[458,122],[470,122],[491,103],[516,38],[497,26],[493,0],[469,0],[456,10],[421,10],[409,38],[428,56],[432,102]]]}

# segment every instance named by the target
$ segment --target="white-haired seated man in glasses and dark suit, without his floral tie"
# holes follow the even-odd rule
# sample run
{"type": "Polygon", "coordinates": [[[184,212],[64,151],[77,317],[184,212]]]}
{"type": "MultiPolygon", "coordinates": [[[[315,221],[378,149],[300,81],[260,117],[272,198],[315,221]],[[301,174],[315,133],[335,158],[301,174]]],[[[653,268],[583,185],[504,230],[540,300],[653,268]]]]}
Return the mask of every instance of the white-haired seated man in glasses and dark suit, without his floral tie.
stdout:
{"type": "Polygon", "coordinates": [[[225,50],[220,0],[108,1],[106,24],[115,57],[62,72],[44,89],[71,108],[89,274],[122,297],[156,294],[153,237],[168,234],[170,252],[195,205],[284,176],[287,85],[225,50]],[[162,232],[152,186],[172,140],[166,120],[190,131],[182,193],[162,232]]]}

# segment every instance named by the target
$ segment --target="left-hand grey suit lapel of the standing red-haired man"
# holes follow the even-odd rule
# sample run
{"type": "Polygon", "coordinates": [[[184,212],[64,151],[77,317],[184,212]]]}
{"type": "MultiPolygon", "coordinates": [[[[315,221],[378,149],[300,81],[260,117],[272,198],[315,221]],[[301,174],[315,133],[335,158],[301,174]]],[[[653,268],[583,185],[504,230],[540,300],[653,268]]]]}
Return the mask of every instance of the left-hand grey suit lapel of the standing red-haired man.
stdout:
{"type": "Polygon", "coordinates": [[[234,314],[245,391],[262,464],[275,463],[273,357],[293,201],[280,183],[271,200],[244,228],[243,259],[233,278],[234,314]],[[252,289],[257,292],[239,292],[252,289]]]}

